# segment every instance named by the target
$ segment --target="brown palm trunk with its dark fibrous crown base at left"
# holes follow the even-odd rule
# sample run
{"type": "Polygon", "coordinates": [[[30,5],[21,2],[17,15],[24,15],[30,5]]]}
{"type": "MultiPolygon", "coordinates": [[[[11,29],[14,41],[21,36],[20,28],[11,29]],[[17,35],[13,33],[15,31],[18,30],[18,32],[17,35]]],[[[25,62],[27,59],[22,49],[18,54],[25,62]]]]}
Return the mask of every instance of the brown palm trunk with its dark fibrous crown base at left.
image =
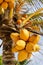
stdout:
{"type": "MultiPolygon", "coordinates": [[[[5,17],[5,15],[3,16],[5,17]]],[[[12,41],[10,39],[10,33],[12,30],[9,30],[9,19],[3,19],[2,15],[0,15],[0,39],[3,41],[3,64],[4,65],[14,65],[14,53],[12,53],[12,41]],[[5,23],[6,22],[6,23],[5,23]],[[8,23],[7,23],[8,22],[8,23]]]]}

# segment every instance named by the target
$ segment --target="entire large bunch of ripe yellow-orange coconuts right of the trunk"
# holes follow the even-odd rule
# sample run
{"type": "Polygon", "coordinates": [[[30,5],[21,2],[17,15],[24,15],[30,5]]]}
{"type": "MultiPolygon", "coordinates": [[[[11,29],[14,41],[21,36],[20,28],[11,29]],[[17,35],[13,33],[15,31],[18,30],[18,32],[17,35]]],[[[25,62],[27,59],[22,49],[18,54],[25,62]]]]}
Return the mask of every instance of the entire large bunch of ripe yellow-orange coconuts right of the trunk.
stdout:
{"type": "Polygon", "coordinates": [[[25,28],[20,29],[20,33],[11,33],[10,37],[13,41],[12,52],[18,52],[19,62],[30,59],[32,52],[40,50],[40,36],[30,33],[25,28]]]}

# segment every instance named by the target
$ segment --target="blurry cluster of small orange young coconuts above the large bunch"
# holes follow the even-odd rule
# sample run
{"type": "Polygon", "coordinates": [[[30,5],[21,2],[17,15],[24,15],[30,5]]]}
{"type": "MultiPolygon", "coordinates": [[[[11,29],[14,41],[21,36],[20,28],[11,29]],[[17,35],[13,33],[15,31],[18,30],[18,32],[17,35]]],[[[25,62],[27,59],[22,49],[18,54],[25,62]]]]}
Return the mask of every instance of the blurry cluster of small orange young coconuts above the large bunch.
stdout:
{"type": "Polygon", "coordinates": [[[27,22],[24,23],[27,18],[28,18],[28,15],[27,14],[20,15],[20,17],[16,21],[16,24],[19,25],[19,27],[21,27],[21,28],[22,27],[24,27],[24,28],[30,28],[30,29],[32,29],[34,31],[40,32],[40,27],[37,26],[37,25],[33,25],[34,24],[33,23],[34,21],[27,20],[27,22]],[[24,23],[24,25],[23,25],[23,23],[24,23]]]}

